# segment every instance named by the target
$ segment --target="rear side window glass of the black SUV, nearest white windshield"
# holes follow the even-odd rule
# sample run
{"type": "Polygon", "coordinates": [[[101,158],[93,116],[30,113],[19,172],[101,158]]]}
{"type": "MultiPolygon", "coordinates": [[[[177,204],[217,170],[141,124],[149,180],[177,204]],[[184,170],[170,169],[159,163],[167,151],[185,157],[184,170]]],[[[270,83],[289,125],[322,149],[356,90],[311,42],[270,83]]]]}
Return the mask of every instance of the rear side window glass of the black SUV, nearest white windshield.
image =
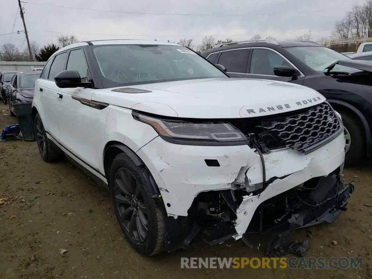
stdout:
{"type": "Polygon", "coordinates": [[[218,59],[218,64],[224,65],[227,72],[246,73],[248,49],[224,51],[218,59]]]}

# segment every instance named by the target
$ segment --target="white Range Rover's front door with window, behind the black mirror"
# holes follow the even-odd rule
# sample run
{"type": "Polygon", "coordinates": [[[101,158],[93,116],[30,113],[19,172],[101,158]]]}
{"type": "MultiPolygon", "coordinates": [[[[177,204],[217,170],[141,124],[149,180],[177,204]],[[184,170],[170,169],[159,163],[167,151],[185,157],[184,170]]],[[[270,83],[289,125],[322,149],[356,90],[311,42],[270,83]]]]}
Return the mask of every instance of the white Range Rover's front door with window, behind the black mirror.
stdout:
{"type": "MultiPolygon", "coordinates": [[[[82,82],[91,81],[83,48],[70,51],[66,70],[76,70],[82,82]]],[[[99,153],[97,147],[103,141],[109,109],[93,105],[93,91],[83,87],[63,89],[60,141],[78,163],[99,172],[96,166],[97,160],[102,161],[102,152],[99,153]]]]}

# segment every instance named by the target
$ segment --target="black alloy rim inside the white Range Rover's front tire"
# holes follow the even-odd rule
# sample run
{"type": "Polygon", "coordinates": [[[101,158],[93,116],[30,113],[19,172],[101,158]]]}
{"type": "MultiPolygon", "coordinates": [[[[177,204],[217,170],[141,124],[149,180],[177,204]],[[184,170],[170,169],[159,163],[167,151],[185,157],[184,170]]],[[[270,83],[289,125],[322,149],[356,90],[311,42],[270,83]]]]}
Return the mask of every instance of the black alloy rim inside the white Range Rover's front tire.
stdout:
{"type": "Polygon", "coordinates": [[[116,171],[114,193],[118,221],[133,241],[144,243],[149,234],[150,208],[144,201],[139,183],[129,169],[120,167],[116,171]]]}

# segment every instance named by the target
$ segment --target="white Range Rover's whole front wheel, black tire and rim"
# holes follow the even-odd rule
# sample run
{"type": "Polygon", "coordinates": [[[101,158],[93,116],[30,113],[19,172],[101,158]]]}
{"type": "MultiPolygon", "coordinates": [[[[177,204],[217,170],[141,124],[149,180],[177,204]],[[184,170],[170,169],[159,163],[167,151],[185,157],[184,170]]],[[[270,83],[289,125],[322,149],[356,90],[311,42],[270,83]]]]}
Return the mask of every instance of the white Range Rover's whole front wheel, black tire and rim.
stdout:
{"type": "Polygon", "coordinates": [[[164,250],[166,211],[151,198],[149,176],[145,166],[136,166],[128,155],[121,153],[112,162],[109,187],[115,215],[126,239],[139,253],[153,256],[164,250]]]}

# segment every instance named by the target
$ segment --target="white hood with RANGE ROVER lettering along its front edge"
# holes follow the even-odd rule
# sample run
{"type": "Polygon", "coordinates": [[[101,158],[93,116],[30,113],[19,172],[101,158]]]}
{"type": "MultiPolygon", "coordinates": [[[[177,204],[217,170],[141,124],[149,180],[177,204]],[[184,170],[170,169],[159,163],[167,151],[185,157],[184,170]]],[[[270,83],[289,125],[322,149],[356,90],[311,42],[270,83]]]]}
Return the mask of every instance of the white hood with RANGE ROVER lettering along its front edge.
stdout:
{"type": "Polygon", "coordinates": [[[252,78],[209,78],[127,87],[151,92],[98,89],[92,92],[92,100],[155,115],[204,119],[272,115],[325,101],[323,95],[309,87],[252,78]]]}

